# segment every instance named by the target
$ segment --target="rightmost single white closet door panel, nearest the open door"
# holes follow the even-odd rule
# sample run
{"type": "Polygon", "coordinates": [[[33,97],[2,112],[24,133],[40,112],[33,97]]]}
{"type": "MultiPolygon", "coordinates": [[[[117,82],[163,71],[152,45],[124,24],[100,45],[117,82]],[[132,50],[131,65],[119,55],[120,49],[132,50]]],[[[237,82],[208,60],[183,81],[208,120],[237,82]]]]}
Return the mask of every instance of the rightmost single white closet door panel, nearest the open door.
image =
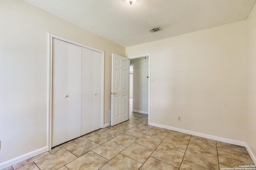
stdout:
{"type": "Polygon", "coordinates": [[[102,127],[102,53],[93,51],[92,130],[102,127]]]}

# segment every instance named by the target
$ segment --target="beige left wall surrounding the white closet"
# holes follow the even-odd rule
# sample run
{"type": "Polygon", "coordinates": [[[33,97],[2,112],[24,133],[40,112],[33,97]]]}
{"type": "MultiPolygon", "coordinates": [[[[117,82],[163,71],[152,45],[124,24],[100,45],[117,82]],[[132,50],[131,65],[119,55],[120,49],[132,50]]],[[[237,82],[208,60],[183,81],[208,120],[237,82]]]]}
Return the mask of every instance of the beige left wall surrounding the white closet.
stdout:
{"type": "Polygon", "coordinates": [[[0,0],[0,21],[0,163],[47,145],[49,32],[105,52],[108,123],[111,53],[124,47],[21,0],[0,0]]]}

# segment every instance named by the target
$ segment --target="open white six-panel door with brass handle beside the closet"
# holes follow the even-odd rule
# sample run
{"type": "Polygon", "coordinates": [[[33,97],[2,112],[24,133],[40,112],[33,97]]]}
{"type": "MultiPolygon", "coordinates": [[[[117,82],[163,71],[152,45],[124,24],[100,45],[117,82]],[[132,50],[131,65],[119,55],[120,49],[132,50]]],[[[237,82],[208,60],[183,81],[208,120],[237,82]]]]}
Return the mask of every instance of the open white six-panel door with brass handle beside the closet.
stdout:
{"type": "Polygon", "coordinates": [[[129,119],[129,59],[112,54],[111,126],[129,119]]]}

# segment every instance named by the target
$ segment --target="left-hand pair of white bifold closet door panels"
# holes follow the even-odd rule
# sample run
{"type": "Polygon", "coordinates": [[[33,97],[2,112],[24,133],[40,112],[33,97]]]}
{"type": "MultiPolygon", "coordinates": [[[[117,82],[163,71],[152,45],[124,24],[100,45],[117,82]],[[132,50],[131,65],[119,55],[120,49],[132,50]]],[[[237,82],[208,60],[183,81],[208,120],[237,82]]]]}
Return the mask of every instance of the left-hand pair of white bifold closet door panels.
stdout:
{"type": "Polygon", "coordinates": [[[53,39],[52,147],[81,136],[82,47],[53,39]]]}

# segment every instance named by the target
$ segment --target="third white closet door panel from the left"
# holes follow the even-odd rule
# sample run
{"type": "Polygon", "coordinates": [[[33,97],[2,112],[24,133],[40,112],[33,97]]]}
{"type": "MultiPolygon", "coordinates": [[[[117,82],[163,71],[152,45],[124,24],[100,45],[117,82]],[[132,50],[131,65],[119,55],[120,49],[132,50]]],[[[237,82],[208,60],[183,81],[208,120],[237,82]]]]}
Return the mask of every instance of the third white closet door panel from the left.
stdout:
{"type": "MultiPolygon", "coordinates": [[[[92,132],[93,51],[82,47],[82,114],[81,135],[92,132]]],[[[96,129],[97,130],[97,129],[96,129]]]]}

